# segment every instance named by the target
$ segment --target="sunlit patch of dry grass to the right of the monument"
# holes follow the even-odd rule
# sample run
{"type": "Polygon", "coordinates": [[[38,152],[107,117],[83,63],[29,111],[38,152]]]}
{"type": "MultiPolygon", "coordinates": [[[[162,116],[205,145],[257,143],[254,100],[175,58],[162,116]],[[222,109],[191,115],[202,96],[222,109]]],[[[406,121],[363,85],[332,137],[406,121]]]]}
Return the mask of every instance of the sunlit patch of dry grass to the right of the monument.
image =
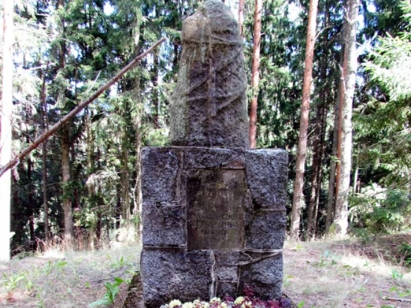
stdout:
{"type": "Polygon", "coordinates": [[[286,242],[284,292],[303,307],[411,307],[385,299],[411,298],[408,270],[353,251],[358,244],[353,239],[286,242]]]}

